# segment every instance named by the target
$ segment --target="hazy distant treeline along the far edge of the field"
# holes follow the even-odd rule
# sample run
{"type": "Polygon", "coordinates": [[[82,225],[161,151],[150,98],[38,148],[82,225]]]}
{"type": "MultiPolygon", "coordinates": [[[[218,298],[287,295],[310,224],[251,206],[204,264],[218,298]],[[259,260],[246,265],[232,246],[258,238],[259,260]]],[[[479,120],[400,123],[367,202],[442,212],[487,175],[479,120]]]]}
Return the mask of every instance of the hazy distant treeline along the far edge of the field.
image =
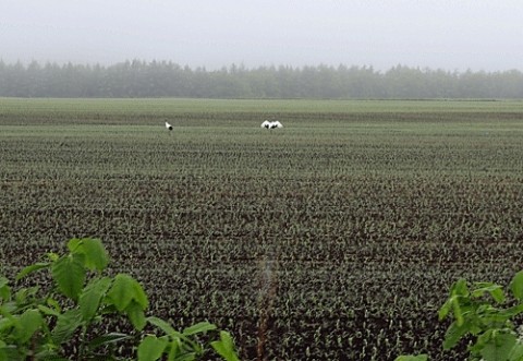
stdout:
{"type": "Polygon", "coordinates": [[[3,97],[523,98],[523,73],[449,72],[398,65],[231,65],[192,69],[139,60],[113,65],[0,61],[3,97]]]}

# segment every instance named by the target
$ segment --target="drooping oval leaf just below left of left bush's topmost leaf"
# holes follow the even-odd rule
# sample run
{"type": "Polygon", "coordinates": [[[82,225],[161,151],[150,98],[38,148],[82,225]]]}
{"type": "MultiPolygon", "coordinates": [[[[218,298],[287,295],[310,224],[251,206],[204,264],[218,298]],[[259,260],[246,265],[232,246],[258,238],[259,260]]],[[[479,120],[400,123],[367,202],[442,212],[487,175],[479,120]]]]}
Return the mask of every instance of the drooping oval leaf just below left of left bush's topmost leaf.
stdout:
{"type": "Polygon", "coordinates": [[[51,266],[52,278],[58,289],[66,297],[77,300],[85,281],[85,268],[73,256],[63,256],[51,266]]]}

